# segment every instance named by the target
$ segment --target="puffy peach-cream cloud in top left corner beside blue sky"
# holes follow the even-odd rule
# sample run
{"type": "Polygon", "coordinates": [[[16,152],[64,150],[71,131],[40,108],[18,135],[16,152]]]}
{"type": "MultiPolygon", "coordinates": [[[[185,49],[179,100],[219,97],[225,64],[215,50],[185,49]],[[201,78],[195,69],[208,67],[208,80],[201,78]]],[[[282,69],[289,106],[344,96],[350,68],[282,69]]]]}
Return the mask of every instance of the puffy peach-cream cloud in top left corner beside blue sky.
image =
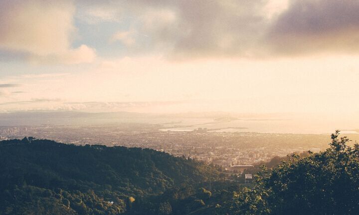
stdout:
{"type": "Polygon", "coordinates": [[[83,63],[95,51],[86,45],[71,47],[76,28],[75,6],[69,0],[0,1],[0,48],[26,54],[31,60],[83,63]],[[78,57],[81,55],[81,57],[78,57]]]}

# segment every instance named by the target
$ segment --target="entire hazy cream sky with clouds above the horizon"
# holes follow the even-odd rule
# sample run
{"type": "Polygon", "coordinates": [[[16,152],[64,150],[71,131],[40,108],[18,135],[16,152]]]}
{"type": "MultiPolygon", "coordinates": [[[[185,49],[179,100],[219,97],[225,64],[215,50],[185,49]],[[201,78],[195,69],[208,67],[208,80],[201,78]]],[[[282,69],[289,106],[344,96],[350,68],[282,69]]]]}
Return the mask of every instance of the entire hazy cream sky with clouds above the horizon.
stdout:
{"type": "Polygon", "coordinates": [[[0,112],[358,113],[358,0],[0,0],[0,112]]]}

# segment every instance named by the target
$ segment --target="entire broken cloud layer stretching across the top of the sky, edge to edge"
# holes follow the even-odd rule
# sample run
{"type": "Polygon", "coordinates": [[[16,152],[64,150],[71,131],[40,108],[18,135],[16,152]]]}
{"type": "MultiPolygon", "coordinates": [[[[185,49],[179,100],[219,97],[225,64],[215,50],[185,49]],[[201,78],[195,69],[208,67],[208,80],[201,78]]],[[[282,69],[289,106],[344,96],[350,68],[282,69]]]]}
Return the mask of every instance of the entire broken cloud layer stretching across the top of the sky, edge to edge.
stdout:
{"type": "Polygon", "coordinates": [[[359,51],[357,0],[2,0],[0,8],[1,58],[6,51],[35,63],[96,58],[86,44],[72,47],[74,18],[80,31],[100,34],[80,38],[98,45],[100,53],[130,57],[188,60],[359,51]],[[92,27],[99,32],[87,29],[92,27]]]}

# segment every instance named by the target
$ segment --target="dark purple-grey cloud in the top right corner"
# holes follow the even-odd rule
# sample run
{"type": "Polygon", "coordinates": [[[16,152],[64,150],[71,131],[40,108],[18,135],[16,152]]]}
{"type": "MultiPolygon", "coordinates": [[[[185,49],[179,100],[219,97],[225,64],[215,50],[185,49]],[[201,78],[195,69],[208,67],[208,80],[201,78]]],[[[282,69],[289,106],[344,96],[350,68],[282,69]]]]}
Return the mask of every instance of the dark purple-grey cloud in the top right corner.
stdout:
{"type": "Polygon", "coordinates": [[[293,0],[269,29],[276,54],[359,52],[359,1],[293,0]]]}

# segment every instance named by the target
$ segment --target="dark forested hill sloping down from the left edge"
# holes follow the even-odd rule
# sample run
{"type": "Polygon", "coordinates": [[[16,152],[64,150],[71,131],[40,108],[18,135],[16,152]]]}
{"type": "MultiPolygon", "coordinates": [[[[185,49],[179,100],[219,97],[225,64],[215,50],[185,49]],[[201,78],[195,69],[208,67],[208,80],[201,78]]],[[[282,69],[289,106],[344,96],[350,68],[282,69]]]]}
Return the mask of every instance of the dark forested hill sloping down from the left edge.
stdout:
{"type": "Polygon", "coordinates": [[[218,171],[151,149],[0,142],[0,214],[118,214],[136,198],[215,180],[218,171]]]}

